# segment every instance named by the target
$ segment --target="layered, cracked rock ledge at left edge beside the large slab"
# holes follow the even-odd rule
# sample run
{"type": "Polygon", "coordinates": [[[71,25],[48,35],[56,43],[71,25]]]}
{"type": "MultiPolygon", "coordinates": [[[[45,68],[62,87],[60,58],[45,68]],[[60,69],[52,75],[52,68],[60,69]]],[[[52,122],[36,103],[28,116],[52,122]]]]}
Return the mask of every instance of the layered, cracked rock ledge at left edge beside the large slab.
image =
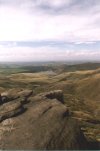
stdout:
{"type": "Polygon", "coordinates": [[[24,104],[28,102],[28,97],[33,93],[32,90],[22,90],[12,93],[4,92],[0,95],[0,122],[21,114],[25,111],[24,104]]]}

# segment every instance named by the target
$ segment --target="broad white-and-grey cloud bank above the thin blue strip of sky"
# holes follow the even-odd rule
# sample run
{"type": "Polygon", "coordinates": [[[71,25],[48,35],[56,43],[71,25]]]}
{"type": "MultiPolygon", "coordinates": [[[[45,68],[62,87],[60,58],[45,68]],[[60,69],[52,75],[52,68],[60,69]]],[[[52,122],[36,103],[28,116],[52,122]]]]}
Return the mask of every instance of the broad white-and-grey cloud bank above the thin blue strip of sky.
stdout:
{"type": "Polygon", "coordinates": [[[59,5],[55,1],[57,0],[0,0],[0,5],[8,6],[2,9],[0,7],[0,38],[11,37],[16,40],[18,34],[13,29],[18,28],[17,40],[59,37],[76,42],[100,40],[100,0],[58,0],[59,5]],[[10,22],[8,16],[13,18],[10,22]],[[5,24],[8,24],[8,28],[5,24]],[[9,32],[11,27],[11,32],[15,34],[9,32]]]}

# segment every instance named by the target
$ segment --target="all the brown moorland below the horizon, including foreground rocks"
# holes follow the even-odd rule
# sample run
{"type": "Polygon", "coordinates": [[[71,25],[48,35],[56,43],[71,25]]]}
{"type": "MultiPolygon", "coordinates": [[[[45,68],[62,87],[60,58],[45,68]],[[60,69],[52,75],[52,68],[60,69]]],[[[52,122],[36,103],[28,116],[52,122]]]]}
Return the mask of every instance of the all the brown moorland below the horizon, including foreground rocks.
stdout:
{"type": "MultiPolygon", "coordinates": [[[[84,145],[85,149],[100,149],[100,63],[1,63],[0,94],[1,149],[84,149],[84,145]],[[62,99],[60,99],[60,97],[62,99]],[[63,119],[60,120],[58,118],[58,112],[60,114],[62,111],[52,107],[53,105],[51,104],[46,106],[47,102],[45,101],[45,98],[47,98],[47,100],[52,99],[52,101],[60,100],[68,110],[66,118],[68,118],[69,121],[71,120],[71,122],[69,122],[69,127],[71,127],[71,130],[69,131],[71,132],[66,134],[67,130],[65,129],[65,132],[62,133],[66,134],[66,136],[62,136],[61,132],[59,132],[59,135],[54,135],[58,131],[57,127],[60,129],[60,124],[63,123],[63,119]],[[39,100],[43,100],[44,105],[42,104],[42,106],[41,103],[38,103],[37,108],[35,108],[34,106],[39,100]],[[13,102],[15,104],[12,104],[13,102]],[[19,109],[20,106],[20,104],[17,104],[16,102],[21,102],[21,105],[24,104],[23,107],[21,106],[22,108],[25,108],[23,114],[21,114],[22,111],[20,112],[20,110],[18,110],[18,114],[16,114],[16,109],[19,109]],[[32,106],[33,110],[31,109],[32,106]],[[44,108],[46,108],[46,111],[44,108]],[[50,111],[48,112],[50,113],[47,112],[47,108],[49,108],[50,111]],[[51,108],[53,108],[52,112],[51,108]],[[13,113],[11,112],[12,109],[13,113]],[[40,111],[41,109],[43,109],[43,115],[42,111],[40,111]],[[35,120],[38,123],[36,124],[35,122],[35,126],[33,126],[35,127],[34,130],[31,129],[32,123],[34,123],[32,121],[32,115],[35,114],[35,116],[37,116],[37,113],[38,116],[41,115],[43,117],[41,118],[41,121],[40,118],[35,120]],[[45,116],[44,113],[46,113],[45,116]],[[52,113],[55,114],[52,115],[52,113]],[[57,118],[53,121],[54,116],[56,117],[56,113],[57,118]],[[2,114],[3,116],[1,117],[2,114]],[[52,126],[54,125],[54,128],[56,127],[56,130],[51,130],[51,127],[46,125],[46,121],[47,123],[50,122],[49,119],[53,121],[53,123],[51,123],[52,126]],[[57,125],[56,122],[58,121],[59,124],[57,125]],[[78,123],[81,131],[81,137],[79,137],[78,140],[78,134],[74,134],[76,128],[72,128],[74,127],[73,121],[78,123]],[[12,122],[13,125],[15,125],[15,127],[13,127],[15,130],[9,128],[9,125],[11,126],[12,122]],[[26,126],[23,125],[24,122],[26,126]],[[42,128],[44,126],[41,125],[41,123],[46,125],[45,130],[42,128]],[[16,130],[20,125],[23,125],[23,127],[19,128],[20,130],[16,130]],[[29,125],[31,125],[31,127],[29,125]],[[40,125],[40,127],[38,125],[40,125]],[[26,127],[29,128],[26,129],[26,127]],[[52,136],[51,134],[46,135],[42,132],[46,130],[48,130],[48,133],[51,133],[52,131],[52,136]],[[32,136],[30,135],[31,131],[34,131],[32,136]],[[35,131],[37,131],[37,133],[35,131]],[[40,131],[41,136],[38,136],[38,131],[40,131]],[[26,132],[27,136],[24,134],[26,132]],[[10,135],[8,133],[10,133],[10,135]],[[20,141],[17,143],[19,137],[20,141]],[[34,137],[36,137],[35,140],[33,139],[34,137]],[[42,141],[42,138],[44,137],[46,137],[45,139],[47,142],[42,141]],[[53,137],[55,140],[59,141],[55,141],[53,137]],[[64,140],[60,140],[59,137],[64,138],[64,140]],[[34,143],[32,142],[32,139],[34,143]],[[68,142],[67,139],[70,140],[69,144],[73,145],[66,145],[68,142]],[[83,143],[83,146],[79,145],[81,144],[79,140],[82,141],[82,139],[83,142],[84,140],[86,141],[86,143],[83,143]],[[20,144],[21,141],[22,143],[20,144]],[[26,143],[27,141],[29,141],[29,143],[26,143]],[[23,146],[25,143],[27,146],[23,146]],[[87,143],[89,145],[87,145],[87,143]],[[61,145],[59,146],[58,144],[61,145]],[[68,146],[68,148],[66,146],[68,146]]],[[[63,107],[61,106],[61,108],[63,107]]],[[[34,119],[36,118],[37,117],[34,117],[34,119]]],[[[68,128],[66,122],[64,127],[68,128]]]]}

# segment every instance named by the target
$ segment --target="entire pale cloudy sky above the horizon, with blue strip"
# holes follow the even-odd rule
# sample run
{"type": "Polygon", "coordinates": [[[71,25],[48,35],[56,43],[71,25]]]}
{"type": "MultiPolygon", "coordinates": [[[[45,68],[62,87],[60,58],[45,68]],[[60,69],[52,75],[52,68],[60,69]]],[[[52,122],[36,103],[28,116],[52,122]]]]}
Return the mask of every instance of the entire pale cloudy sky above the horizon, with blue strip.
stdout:
{"type": "Polygon", "coordinates": [[[0,0],[0,61],[100,60],[100,0],[0,0]]]}

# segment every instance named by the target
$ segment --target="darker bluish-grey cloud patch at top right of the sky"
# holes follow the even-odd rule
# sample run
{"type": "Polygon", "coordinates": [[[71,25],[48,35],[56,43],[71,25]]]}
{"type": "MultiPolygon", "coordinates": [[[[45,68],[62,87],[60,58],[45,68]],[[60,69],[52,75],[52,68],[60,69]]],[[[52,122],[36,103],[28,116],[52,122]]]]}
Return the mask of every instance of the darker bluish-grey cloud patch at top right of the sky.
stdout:
{"type": "Polygon", "coordinates": [[[66,13],[89,13],[94,11],[93,8],[100,5],[99,0],[70,0],[70,3],[67,3],[67,0],[62,1],[62,5],[55,6],[53,5],[53,1],[48,3],[48,1],[44,0],[36,0],[36,7],[41,11],[49,14],[66,14],[66,13]]]}

